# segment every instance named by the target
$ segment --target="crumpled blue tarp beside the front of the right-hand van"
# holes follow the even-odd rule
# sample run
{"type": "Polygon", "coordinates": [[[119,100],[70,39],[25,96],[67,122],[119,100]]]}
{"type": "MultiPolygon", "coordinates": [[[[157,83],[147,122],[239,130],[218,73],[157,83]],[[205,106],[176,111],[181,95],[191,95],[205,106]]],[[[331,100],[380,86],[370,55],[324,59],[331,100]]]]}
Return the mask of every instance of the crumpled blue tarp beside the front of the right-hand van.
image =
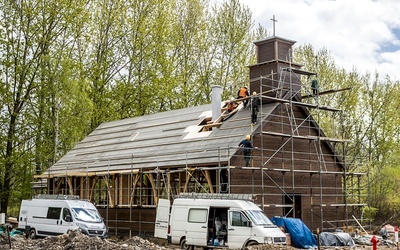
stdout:
{"type": "Polygon", "coordinates": [[[302,220],[297,218],[272,217],[271,221],[290,234],[292,246],[297,248],[317,247],[317,240],[302,220]]]}

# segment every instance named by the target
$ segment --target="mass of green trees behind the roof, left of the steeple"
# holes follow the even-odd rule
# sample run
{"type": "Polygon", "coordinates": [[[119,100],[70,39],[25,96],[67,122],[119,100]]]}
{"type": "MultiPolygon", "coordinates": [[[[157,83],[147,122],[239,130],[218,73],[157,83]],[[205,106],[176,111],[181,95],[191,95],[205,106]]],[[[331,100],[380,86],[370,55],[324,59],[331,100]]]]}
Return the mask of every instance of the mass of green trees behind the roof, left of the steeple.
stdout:
{"type": "MultiPolygon", "coordinates": [[[[247,79],[251,13],[237,0],[0,3],[0,203],[101,123],[224,98],[247,79]]],[[[10,204],[11,204],[10,203],[10,204]]]]}

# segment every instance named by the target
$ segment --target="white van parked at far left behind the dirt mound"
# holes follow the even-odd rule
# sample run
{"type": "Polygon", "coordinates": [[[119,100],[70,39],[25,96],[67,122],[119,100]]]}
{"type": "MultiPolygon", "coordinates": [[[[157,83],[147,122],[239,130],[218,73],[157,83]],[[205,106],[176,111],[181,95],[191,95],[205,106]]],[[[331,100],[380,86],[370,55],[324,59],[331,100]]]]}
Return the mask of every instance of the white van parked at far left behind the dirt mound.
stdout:
{"type": "Polygon", "coordinates": [[[107,237],[96,207],[78,196],[38,195],[32,200],[23,200],[18,217],[18,229],[31,239],[37,236],[54,236],[79,229],[89,236],[107,237]]]}

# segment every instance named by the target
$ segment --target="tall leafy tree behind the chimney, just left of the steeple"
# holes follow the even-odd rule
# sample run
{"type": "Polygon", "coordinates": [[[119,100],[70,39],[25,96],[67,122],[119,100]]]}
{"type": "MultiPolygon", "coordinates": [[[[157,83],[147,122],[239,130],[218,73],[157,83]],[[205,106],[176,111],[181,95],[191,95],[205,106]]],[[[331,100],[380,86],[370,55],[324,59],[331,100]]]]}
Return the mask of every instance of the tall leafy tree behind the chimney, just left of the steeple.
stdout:
{"type": "MultiPolygon", "coordinates": [[[[213,7],[214,18],[211,22],[210,51],[212,63],[216,65],[210,77],[211,84],[222,86],[223,96],[236,97],[236,91],[248,82],[248,68],[252,56],[251,32],[254,22],[250,9],[238,0],[229,0],[220,7],[213,7]]],[[[258,30],[260,31],[260,30],[258,30]]],[[[211,60],[210,60],[211,61],[211,60]]],[[[210,85],[203,88],[208,91],[210,85]]]]}

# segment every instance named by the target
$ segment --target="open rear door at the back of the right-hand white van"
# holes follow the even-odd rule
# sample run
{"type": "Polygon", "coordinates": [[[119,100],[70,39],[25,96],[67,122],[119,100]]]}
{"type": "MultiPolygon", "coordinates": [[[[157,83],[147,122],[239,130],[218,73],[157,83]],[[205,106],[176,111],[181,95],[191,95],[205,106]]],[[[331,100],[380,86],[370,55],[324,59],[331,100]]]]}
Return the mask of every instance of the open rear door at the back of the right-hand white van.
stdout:
{"type": "Polygon", "coordinates": [[[166,199],[158,200],[154,237],[163,239],[167,238],[170,208],[171,208],[171,203],[169,200],[166,199]]]}

